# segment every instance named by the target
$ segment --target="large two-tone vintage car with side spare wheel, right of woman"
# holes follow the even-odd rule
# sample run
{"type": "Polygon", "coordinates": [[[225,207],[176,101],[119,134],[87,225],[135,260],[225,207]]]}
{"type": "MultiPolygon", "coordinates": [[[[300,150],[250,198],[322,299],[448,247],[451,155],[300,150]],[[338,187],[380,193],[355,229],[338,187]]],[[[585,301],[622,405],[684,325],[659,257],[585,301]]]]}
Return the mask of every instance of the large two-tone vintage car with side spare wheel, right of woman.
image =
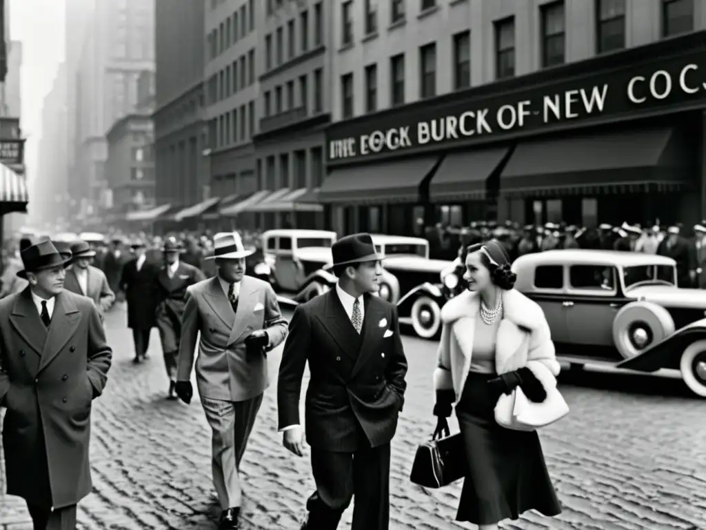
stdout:
{"type": "Polygon", "coordinates": [[[559,360],[680,370],[706,397],[706,291],[678,288],[674,259],[551,250],[517,258],[513,270],[515,288],[544,310],[559,360]]]}

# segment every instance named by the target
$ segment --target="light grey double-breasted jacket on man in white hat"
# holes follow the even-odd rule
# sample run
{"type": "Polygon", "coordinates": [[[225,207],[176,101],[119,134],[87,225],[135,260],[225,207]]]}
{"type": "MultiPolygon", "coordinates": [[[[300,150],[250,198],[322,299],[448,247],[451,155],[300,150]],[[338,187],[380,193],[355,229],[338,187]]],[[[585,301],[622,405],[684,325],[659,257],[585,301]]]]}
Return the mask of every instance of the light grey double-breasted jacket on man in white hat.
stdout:
{"type": "Polygon", "coordinates": [[[245,401],[269,386],[265,355],[246,355],[245,338],[264,329],[268,350],[287,336],[277,295],[265,281],[244,276],[237,312],[233,312],[218,276],[191,286],[181,322],[177,380],[189,381],[196,336],[201,331],[196,360],[198,393],[210,399],[245,401]]]}

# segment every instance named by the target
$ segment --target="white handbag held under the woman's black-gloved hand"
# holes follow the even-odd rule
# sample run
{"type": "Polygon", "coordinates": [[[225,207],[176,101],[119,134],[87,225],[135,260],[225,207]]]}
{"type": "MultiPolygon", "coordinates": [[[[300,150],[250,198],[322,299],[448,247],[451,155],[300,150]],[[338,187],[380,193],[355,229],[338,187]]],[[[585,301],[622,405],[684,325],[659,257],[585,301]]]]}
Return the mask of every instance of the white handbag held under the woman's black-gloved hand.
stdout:
{"type": "Polygon", "coordinates": [[[561,420],[569,412],[561,392],[556,387],[546,389],[546,399],[533,403],[520,387],[503,394],[495,406],[495,420],[501,427],[532,431],[561,420]]]}

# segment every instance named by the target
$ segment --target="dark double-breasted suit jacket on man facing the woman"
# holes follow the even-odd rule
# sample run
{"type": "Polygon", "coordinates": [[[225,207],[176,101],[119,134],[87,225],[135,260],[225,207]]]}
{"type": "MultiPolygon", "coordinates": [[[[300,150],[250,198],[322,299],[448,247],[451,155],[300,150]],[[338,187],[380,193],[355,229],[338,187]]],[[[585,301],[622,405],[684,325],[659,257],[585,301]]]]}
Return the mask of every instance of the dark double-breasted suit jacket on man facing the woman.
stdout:
{"type": "Polygon", "coordinates": [[[300,424],[299,394],[309,361],[306,441],[352,452],[359,427],[372,447],[392,440],[404,404],[407,358],[394,305],[364,295],[359,335],[335,289],[297,306],[289,324],[277,382],[280,429],[300,424]]]}

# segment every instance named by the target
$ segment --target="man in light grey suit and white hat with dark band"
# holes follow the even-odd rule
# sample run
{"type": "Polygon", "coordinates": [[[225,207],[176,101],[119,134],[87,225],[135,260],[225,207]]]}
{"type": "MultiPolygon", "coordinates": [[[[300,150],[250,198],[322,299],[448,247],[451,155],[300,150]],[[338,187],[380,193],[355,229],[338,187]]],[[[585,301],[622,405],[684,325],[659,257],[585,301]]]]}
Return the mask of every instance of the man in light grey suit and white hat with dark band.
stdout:
{"type": "Polygon", "coordinates": [[[213,430],[213,483],[220,500],[220,529],[238,528],[240,461],[268,387],[266,352],[287,335],[269,283],[245,274],[245,249],[237,232],[214,237],[217,275],[187,290],[181,327],[177,393],[191,401],[191,368],[201,332],[196,382],[213,430]]]}

